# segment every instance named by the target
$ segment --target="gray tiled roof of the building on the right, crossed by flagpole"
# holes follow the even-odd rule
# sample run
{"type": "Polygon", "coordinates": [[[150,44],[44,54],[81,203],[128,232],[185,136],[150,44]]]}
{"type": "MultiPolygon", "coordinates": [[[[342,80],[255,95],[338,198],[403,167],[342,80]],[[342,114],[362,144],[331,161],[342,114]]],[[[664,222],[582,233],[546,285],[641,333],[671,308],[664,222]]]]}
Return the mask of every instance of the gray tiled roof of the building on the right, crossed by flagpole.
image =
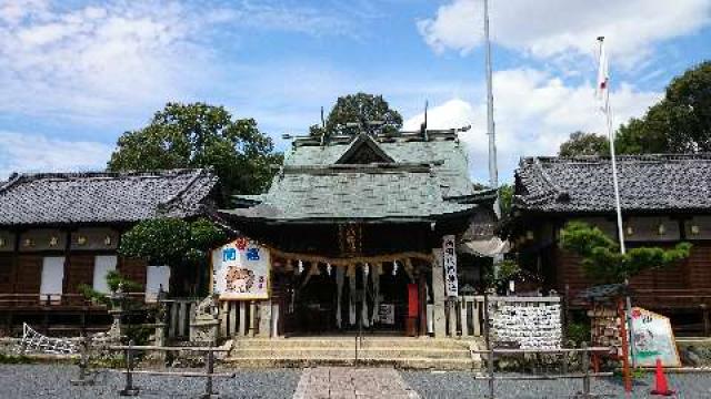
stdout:
{"type": "MultiPolygon", "coordinates": [[[[711,154],[622,155],[617,162],[623,209],[711,209],[711,154]]],[[[609,157],[529,157],[515,174],[518,208],[614,211],[609,157]]]]}

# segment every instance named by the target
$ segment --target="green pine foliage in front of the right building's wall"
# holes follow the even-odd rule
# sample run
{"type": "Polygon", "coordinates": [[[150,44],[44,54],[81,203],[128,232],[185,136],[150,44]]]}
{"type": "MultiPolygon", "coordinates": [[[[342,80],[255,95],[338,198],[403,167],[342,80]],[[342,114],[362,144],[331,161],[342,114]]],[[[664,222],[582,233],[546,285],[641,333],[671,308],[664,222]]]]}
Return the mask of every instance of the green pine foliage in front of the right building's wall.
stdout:
{"type": "Polygon", "coordinates": [[[679,243],[671,249],[629,248],[623,255],[615,241],[600,228],[581,222],[565,225],[559,245],[580,255],[585,274],[600,283],[622,283],[647,269],[673,265],[689,257],[691,252],[691,244],[679,243]]]}

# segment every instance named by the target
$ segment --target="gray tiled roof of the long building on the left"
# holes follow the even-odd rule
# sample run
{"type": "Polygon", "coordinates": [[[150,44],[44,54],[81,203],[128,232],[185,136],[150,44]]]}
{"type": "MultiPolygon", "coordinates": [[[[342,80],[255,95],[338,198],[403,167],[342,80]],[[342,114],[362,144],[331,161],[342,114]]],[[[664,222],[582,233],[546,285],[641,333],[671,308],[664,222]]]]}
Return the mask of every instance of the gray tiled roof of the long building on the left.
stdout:
{"type": "Polygon", "coordinates": [[[138,222],[204,212],[206,170],[16,175],[0,186],[0,225],[138,222]]]}

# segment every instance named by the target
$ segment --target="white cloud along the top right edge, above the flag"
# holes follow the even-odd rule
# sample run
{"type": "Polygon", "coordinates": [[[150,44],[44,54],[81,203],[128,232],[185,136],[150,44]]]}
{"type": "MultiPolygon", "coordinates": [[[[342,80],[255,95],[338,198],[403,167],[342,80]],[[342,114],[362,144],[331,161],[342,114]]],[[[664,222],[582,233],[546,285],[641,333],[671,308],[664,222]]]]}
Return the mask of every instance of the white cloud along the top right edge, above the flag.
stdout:
{"type": "MultiPolygon", "coordinates": [[[[628,63],[660,40],[691,33],[711,21],[708,0],[507,0],[490,1],[492,40],[538,58],[589,54],[605,35],[610,52],[628,63]]],[[[452,0],[418,22],[435,51],[463,53],[482,42],[481,0],[452,0]]]]}

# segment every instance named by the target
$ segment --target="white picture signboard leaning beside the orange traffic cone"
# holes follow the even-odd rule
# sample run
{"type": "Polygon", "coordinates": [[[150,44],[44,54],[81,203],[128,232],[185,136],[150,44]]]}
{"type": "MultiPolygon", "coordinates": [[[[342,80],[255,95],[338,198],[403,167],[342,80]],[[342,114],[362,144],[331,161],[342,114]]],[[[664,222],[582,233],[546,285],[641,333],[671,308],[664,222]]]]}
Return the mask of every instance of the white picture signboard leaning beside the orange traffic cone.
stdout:
{"type": "Polygon", "coordinates": [[[633,354],[637,366],[680,367],[677,340],[669,318],[643,308],[632,308],[633,354]]]}

